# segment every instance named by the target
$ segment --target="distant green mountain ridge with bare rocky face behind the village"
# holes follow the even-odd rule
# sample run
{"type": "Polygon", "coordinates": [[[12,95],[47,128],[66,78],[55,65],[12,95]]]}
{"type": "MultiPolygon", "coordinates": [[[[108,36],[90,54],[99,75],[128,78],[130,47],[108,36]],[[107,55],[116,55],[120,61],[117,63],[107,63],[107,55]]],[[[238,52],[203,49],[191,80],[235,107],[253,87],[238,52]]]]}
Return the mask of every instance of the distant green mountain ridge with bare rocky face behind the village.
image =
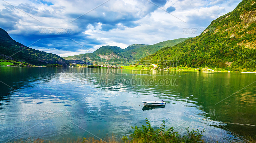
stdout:
{"type": "Polygon", "coordinates": [[[100,61],[100,63],[103,64],[109,61],[116,61],[118,63],[114,65],[129,65],[141,59],[142,57],[153,54],[161,48],[164,48],[166,46],[174,46],[180,42],[185,41],[186,39],[189,38],[168,40],[154,45],[132,44],[125,49],[121,49],[116,46],[102,46],[93,53],[80,54],[63,58],[72,63],[82,63],[83,61],[90,61],[94,64],[97,64],[100,61]]]}

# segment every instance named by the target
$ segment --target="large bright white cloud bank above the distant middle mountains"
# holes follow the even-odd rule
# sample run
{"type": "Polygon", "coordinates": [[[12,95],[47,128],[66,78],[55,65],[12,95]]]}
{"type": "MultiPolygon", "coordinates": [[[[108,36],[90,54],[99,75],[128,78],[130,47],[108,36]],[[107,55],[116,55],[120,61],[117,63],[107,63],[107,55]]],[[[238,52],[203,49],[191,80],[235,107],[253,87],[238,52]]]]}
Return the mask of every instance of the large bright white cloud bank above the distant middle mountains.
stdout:
{"type": "MultiPolygon", "coordinates": [[[[212,20],[227,13],[224,6],[207,6],[207,1],[191,1],[191,0],[173,0],[169,1],[164,7],[174,6],[176,10],[171,14],[178,17],[186,23],[175,18],[171,14],[164,12],[161,9],[152,12],[150,15],[137,20],[139,26],[134,28],[125,27],[123,30],[115,28],[109,31],[101,31],[99,28],[90,28],[84,33],[90,35],[100,41],[108,42],[115,41],[120,44],[155,44],[170,39],[183,37],[194,37],[199,35],[210,23],[206,23],[204,27],[198,23],[205,22],[204,19],[212,20]],[[191,23],[193,18],[201,19],[191,23]],[[197,34],[184,35],[183,28],[198,28],[197,34]]],[[[191,32],[191,31],[190,31],[191,32]]]]}

